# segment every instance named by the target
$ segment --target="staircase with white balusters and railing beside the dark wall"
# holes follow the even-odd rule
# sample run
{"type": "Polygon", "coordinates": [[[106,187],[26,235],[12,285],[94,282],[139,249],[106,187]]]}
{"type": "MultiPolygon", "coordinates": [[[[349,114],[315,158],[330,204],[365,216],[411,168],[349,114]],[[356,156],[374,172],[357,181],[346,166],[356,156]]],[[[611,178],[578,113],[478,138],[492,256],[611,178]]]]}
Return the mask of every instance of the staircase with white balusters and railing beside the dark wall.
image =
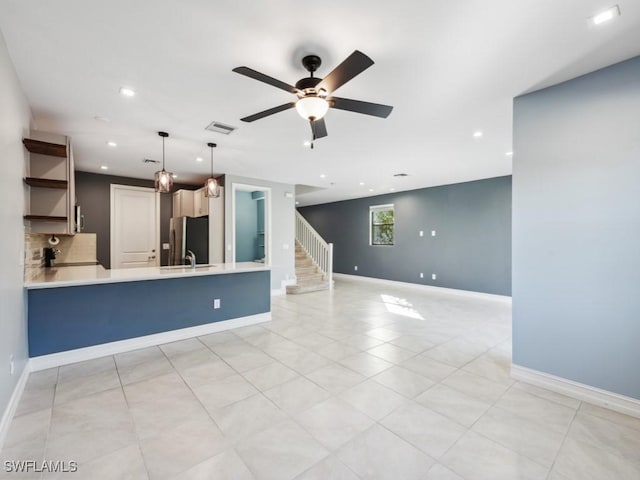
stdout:
{"type": "Polygon", "coordinates": [[[326,243],[296,212],[296,284],[287,293],[308,293],[333,288],[333,244],[326,243]]]}

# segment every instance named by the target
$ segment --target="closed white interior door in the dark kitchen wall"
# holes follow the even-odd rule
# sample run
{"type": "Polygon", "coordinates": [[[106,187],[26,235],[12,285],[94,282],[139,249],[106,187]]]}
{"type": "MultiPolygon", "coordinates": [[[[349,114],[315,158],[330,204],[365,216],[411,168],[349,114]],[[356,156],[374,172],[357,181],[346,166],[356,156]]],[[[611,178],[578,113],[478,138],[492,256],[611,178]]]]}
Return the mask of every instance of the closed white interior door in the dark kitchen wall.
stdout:
{"type": "Polygon", "coordinates": [[[111,268],[158,266],[159,247],[160,194],[111,185],[111,268]]]}

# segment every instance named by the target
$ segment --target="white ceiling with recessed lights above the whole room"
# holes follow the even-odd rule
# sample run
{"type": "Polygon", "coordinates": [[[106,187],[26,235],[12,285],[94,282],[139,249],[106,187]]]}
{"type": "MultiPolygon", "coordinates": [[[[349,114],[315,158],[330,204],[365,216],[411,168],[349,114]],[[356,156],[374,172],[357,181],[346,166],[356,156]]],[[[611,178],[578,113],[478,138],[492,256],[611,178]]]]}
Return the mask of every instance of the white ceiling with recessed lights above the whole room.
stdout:
{"type": "Polygon", "coordinates": [[[320,187],[298,195],[310,205],[510,174],[514,96],[640,54],[638,0],[590,26],[612,1],[2,0],[0,29],[35,126],[72,137],[77,169],[152,178],[142,160],[161,159],[166,130],[178,181],[208,176],[213,141],[217,174],[320,187]],[[295,97],[232,68],[293,84],[305,54],[322,77],[356,49],[376,63],[337,95],[394,105],[389,118],[330,110],[314,150],[295,110],[240,122],[295,97]]]}

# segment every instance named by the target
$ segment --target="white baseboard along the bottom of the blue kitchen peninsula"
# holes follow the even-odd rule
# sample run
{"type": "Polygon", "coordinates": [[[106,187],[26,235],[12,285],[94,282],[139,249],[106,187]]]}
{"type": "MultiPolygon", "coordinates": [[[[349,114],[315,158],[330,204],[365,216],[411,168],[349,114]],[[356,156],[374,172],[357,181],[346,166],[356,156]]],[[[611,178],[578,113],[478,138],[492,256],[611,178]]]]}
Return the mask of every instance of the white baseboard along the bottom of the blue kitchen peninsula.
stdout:
{"type": "Polygon", "coordinates": [[[163,343],[176,342],[178,340],[185,340],[187,338],[207,335],[209,333],[222,332],[232,328],[255,325],[256,323],[268,322],[270,320],[271,312],[258,313],[256,315],[233,318],[231,320],[224,320],[221,322],[207,323],[196,327],[171,330],[169,332],[145,335],[144,337],[130,338],[117,342],[104,343],[102,345],[94,345],[66,352],[33,357],[29,359],[29,364],[31,371],[37,372],[38,370],[46,370],[47,368],[68,365],[69,363],[83,362],[85,360],[92,360],[94,358],[106,357],[117,353],[129,352],[139,348],[153,347],[156,345],[162,345],[163,343]]]}

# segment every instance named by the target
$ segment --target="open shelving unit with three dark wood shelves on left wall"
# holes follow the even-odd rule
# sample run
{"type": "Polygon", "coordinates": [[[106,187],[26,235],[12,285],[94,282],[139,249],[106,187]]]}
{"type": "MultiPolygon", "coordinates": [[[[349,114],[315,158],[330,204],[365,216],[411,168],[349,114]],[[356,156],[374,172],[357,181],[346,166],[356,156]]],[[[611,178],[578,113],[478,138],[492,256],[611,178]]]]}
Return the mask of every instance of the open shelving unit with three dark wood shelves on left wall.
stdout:
{"type": "Polygon", "coordinates": [[[29,151],[24,216],[29,233],[75,233],[75,184],[71,141],[64,135],[32,131],[22,143],[29,151]]]}

